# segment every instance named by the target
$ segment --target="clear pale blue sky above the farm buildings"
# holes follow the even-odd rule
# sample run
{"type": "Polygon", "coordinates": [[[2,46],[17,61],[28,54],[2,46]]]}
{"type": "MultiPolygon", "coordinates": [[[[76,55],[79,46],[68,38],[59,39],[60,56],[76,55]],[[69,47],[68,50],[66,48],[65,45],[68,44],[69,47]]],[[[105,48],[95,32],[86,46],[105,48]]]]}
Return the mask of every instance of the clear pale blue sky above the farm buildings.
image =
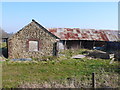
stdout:
{"type": "Polygon", "coordinates": [[[117,2],[3,2],[2,28],[17,32],[35,19],[48,28],[118,29],[117,2]]]}

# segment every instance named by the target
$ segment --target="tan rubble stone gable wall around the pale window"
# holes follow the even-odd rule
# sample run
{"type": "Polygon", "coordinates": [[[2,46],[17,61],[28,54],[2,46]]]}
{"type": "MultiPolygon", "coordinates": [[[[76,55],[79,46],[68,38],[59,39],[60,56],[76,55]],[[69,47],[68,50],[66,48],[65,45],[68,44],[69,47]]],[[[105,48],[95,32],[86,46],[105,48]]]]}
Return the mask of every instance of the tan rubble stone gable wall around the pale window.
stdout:
{"type": "Polygon", "coordinates": [[[45,30],[44,27],[32,21],[23,29],[18,31],[8,40],[9,58],[39,58],[41,56],[53,55],[53,44],[56,37],[45,30]],[[39,41],[39,51],[29,51],[28,42],[39,41]]]}

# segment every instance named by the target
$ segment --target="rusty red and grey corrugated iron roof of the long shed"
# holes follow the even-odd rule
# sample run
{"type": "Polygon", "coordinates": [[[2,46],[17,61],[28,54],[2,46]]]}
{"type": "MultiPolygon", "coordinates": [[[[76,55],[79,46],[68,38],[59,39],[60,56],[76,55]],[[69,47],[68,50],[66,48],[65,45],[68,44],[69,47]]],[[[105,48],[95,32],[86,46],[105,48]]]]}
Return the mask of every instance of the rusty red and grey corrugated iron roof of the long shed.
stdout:
{"type": "Polygon", "coordinates": [[[48,28],[52,34],[61,40],[97,40],[97,41],[118,41],[118,31],[94,30],[79,28],[48,28]]]}

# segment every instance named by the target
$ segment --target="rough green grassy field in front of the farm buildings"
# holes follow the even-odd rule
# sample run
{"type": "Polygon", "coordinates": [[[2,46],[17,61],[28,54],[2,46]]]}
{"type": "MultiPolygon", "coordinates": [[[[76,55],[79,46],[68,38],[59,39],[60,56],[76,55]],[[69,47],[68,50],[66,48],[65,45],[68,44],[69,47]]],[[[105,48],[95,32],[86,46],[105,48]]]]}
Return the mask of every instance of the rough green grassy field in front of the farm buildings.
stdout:
{"type": "MultiPolygon", "coordinates": [[[[84,51],[84,50],[83,50],[84,51]]],[[[119,69],[117,61],[103,59],[71,59],[67,56],[44,57],[48,61],[4,61],[2,62],[2,84],[4,88],[15,87],[91,87],[91,74],[96,73],[96,87],[118,87],[119,69]]]]}

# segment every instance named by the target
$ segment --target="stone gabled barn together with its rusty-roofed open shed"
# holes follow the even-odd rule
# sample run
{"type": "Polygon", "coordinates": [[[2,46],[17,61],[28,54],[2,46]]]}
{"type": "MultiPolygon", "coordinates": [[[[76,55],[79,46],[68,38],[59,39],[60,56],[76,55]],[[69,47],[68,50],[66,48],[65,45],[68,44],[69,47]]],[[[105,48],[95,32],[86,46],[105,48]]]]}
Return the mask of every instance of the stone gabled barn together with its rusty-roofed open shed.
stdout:
{"type": "Polygon", "coordinates": [[[93,49],[118,42],[118,31],[79,28],[44,28],[35,20],[8,39],[9,58],[39,58],[64,49],[93,49]]]}

